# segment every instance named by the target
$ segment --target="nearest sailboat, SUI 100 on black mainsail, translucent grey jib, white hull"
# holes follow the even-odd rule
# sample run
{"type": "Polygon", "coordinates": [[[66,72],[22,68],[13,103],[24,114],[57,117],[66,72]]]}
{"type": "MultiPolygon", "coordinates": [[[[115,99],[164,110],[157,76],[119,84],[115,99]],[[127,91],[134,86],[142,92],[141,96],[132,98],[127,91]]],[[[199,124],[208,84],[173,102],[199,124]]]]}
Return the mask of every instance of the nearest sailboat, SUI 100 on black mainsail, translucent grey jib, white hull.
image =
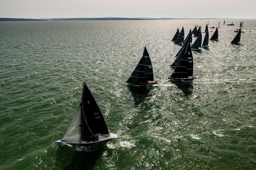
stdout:
{"type": "Polygon", "coordinates": [[[116,134],[109,133],[100,108],[84,82],[82,101],[76,114],[63,138],[56,142],[88,145],[108,141],[116,137],[116,134]]]}

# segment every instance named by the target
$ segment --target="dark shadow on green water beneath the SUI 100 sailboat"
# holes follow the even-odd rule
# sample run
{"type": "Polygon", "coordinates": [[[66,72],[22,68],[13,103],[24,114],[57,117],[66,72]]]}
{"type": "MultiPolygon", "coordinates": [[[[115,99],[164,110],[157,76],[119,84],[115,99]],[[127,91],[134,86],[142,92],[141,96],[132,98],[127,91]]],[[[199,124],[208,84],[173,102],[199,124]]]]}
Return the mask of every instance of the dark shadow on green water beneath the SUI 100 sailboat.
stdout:
{"type": "Polygon", "coordinates": [[[106,144],[90,146],[60,146],[56,153],[58,169],[93,169],[104,152],[106,144]]]}

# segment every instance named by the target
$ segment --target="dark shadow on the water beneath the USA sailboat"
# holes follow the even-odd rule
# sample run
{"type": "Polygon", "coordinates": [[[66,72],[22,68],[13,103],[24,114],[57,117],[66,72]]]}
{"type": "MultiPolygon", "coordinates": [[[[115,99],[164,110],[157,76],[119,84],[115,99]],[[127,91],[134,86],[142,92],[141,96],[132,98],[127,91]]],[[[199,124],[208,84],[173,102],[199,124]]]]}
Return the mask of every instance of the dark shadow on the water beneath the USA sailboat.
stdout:
{"type": "Polygon", "coordinates": [[[148,97],[149,92],[154,88],[153,85],[131,85],[128,84],[128,89],[132,94],[134,105],[140,105],[143,100],[148,97]]]}

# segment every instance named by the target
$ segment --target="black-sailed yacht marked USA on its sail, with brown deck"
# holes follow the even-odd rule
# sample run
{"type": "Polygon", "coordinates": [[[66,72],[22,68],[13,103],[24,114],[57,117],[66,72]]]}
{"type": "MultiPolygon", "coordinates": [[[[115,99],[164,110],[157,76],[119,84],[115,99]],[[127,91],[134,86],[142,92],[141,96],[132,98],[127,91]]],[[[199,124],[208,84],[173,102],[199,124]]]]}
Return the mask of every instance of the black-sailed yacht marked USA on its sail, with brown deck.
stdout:
{"type": "Polygon", "coordinates": [[[140,62],[135,67],[132,75],[130,78],[128,78],[126,83],[131,83],[134,85],[149,85],[158,83],[158,81],[154,80],[152,63],[146,47],[144,48],[140,62]]]}

